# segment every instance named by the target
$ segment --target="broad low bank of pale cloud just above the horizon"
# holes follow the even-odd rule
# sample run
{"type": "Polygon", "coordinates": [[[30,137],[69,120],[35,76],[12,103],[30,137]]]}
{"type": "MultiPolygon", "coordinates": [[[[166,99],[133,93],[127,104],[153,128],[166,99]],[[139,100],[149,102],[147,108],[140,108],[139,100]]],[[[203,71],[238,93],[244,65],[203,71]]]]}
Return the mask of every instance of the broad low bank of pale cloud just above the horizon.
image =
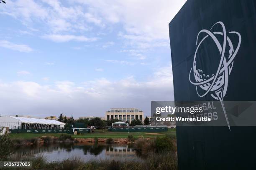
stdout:
{"type": "Polygon", "coordinates": [[[139,107],[150,115],[151,100],[173,100],[172,68],[167,65],[145,81],[133,76],[121,80],[105,78],[74,83],[0,82],[0,112],[5,115],[65,115],[79,117],[95,113],[103,116],[111,107],[139,107]],[[122,100],[120,100],[120,98],[122,100]]]}

